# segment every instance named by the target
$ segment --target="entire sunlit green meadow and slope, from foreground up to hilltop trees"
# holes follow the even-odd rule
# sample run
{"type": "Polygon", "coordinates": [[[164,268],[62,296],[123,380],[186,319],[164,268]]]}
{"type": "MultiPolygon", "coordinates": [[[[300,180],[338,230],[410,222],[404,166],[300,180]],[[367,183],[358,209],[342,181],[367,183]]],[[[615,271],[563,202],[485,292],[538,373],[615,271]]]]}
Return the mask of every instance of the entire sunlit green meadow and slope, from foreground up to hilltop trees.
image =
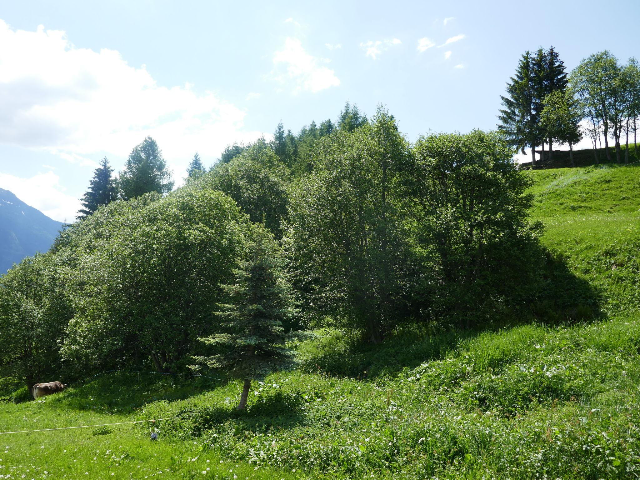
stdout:
{"type": "Polygon", "coordinates": [[[320,330],[296,345],[300,369],[253,385],[244,413],[236,383],[105,374],[0,404],[0,431],[175,418],[0,435],[0,476],[640,477],[640,170],[527,175],[543,243],[604,316],[430,337],[408,328],[381,346],[320,330]]]}

